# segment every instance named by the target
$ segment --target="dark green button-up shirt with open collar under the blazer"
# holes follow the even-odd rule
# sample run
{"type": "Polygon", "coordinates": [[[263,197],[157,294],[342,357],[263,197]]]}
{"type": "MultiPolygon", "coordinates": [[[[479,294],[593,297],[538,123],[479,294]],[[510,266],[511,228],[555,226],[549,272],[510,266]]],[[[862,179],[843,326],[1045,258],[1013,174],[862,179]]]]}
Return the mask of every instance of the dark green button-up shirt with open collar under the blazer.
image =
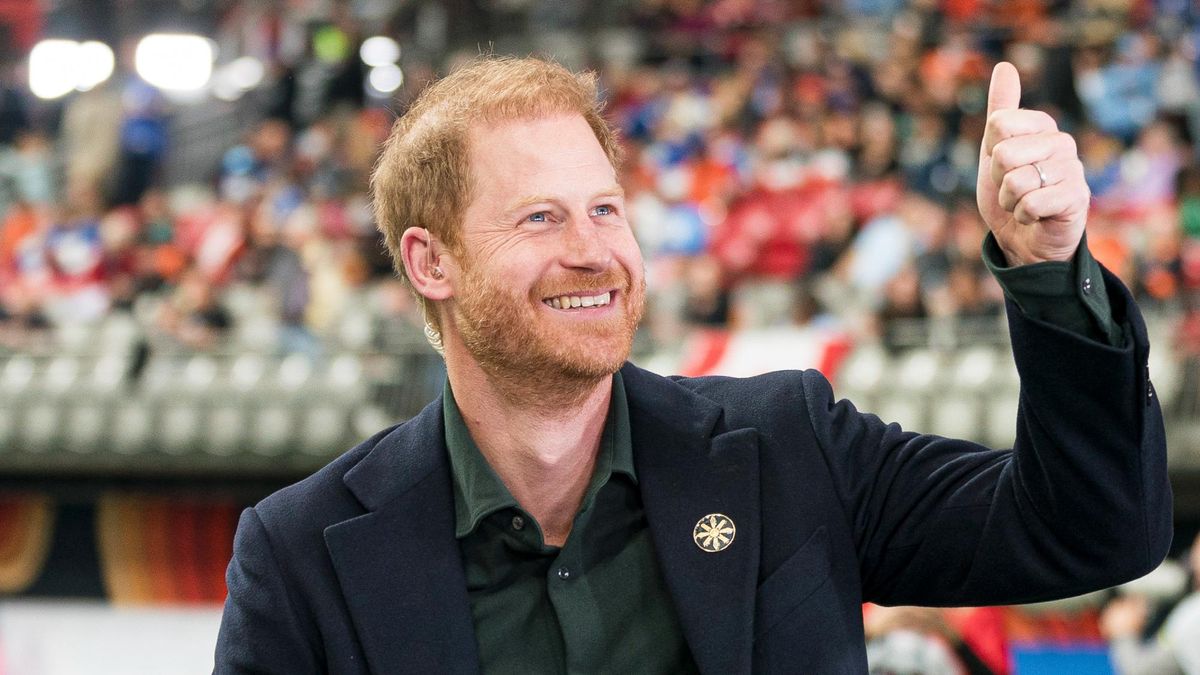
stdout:
{"type": "Polygon", "coordinates": [[[637,491],[620,374],[595,471],[562,548],[480,454],[449,382],[455,536],[485,673],[695,673],[637,491]]]}

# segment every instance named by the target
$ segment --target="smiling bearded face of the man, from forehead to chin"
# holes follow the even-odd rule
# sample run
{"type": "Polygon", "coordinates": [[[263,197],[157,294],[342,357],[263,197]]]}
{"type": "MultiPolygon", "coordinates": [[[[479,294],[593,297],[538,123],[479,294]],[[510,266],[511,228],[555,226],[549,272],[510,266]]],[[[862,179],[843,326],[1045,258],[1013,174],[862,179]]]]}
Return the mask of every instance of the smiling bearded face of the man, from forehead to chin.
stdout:
{"type": "Polygon", "coordinates": [[[553,115],[470,132],[474,199],[449,304],[493,375],[592,380],[629,357],[642,256],[587,121],[553,115]]]}

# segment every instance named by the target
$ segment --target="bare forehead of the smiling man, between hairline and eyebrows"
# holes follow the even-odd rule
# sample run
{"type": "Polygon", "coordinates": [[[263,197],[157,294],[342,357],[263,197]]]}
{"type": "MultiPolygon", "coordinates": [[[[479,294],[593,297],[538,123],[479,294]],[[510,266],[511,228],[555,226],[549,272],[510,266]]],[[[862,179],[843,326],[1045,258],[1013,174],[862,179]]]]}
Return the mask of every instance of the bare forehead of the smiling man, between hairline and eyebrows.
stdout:
{"type": "MultiPolygon", "coordinates": [[[[529,181],[616,183],[616,171],[587,120],[556,114],[472,125],[469,156],[475,187],[522,190],[529,181]]],[[[520,197],[520,195],[510,195],[520,197]]]]}

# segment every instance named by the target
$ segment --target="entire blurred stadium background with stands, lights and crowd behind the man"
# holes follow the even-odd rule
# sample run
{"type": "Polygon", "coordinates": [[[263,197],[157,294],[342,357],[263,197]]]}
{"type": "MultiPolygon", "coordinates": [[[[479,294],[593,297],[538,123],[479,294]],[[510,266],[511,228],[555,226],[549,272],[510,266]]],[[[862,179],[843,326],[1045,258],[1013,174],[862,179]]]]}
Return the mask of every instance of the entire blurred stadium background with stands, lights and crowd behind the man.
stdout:
{"type": "Polygon", "coordinates": [[[438,394],[367,179],[480,52],[599,72],[636,363],[820,368],[992,446],[1018,381],[973,187],[1013,61],[1146,313],[1175,551],[1048,605],[864,608],[872,671],[1200,673],[1188,0],[0,0],[0,673],[209,671],[239,510],[438,394]]]}

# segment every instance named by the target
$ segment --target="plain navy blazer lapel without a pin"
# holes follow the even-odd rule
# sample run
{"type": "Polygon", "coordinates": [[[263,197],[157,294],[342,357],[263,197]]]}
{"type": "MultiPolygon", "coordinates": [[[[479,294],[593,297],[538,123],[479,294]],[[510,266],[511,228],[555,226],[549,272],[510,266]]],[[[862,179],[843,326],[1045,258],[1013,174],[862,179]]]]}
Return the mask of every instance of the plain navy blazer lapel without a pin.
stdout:
{"type": "Polygon", "coordinates": [[[325,530],[373,673],[478,673],[438,398],[343,478],[367,508],[325,530]]]}

